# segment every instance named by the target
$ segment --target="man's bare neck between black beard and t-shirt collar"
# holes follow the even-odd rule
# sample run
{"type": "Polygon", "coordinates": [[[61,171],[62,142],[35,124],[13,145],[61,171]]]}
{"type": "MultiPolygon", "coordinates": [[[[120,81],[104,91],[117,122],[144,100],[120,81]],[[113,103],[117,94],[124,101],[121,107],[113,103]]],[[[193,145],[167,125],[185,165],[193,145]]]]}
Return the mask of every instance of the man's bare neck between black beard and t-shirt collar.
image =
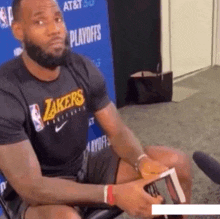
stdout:
{"type": "Polygon", "coordinates": [[[22,53],[22,59],[29,72],[41,81],[54,81],[59,77],[60,67],[57,67],[54,70],[44,68],[32,60],[26,51],[22,53]]]}

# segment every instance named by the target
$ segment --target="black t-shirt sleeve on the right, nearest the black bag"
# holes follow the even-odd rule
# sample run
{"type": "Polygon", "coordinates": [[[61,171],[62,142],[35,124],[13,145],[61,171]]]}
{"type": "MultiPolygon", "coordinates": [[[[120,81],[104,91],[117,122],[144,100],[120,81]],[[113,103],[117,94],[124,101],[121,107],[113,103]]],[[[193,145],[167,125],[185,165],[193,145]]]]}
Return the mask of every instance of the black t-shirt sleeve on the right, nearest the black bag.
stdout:
{"type": "Polygon", "coordinates": [[[106,82],[100,70],[87,58],[83,57],[89,73],[91,112],[98,111],[107,106],[111,101],[108,96],[106,82]]]}

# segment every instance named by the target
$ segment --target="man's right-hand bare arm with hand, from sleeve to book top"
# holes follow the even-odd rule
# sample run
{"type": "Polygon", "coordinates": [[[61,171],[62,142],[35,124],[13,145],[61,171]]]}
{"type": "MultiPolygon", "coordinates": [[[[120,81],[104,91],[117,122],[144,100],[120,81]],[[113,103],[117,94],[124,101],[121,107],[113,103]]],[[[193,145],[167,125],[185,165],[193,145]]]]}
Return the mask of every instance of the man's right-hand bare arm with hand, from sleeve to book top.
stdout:
{"type": "MultiPolygon", "coordinates": [[[[122,122],[119,113],[113,103],[97,111],[95,116],[108,135],[114,151],[126,162],[135,166],[138,157],[145,154],[139,140],[133,132],[122,122]]],[[[149,173],[160,173],[167,167],[144,156],[138,163],[138,169],[142,177],[149,173]]]]}

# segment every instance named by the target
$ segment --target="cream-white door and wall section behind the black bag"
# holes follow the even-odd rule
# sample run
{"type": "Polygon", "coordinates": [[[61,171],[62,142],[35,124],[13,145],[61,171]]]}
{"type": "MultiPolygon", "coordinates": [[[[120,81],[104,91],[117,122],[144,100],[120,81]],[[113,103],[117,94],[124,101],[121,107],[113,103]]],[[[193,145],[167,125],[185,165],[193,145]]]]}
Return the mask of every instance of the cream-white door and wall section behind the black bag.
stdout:
{"type": "Polygon", "coordinates": [[[172,70],[174,77],[178,77],[211,66],[213,0],[161,3],[163,71],[172,70]]]}

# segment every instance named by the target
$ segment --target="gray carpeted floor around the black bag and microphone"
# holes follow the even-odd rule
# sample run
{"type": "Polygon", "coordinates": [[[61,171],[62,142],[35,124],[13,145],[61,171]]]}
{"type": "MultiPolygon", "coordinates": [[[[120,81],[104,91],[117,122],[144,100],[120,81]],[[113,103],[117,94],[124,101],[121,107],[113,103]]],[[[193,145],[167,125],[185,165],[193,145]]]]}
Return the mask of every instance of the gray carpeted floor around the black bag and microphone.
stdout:
{"type": "MultiPolygon", "coordinates": [[[[172,146],[190,157],[194,151],[201,150],[220,161],[220,67],[186,78],[175,86],[199,92],[178,103],[126,106],[119,110],[123,120],[143,145],[172,146]]],[[[219,204],[220,186],[208,179],[193,161],[192,166],[192,203],[219,204]]]]}

